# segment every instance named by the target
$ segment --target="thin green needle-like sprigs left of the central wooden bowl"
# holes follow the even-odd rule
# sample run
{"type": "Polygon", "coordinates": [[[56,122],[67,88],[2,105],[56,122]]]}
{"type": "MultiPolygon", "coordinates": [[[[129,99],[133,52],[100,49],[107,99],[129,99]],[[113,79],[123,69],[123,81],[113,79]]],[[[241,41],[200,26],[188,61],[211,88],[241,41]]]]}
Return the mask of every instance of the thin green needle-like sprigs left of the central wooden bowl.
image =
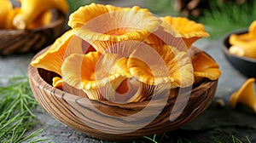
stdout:
{"type": "Polygon", "coordinates": [[[27,134],[35,123],[32,109],[38,102],[32,97],[27,77],[13,77],[6,87],[0,87],[0,142],[41,142],[33,139],[41,133],[38,129],[27,134]]]}

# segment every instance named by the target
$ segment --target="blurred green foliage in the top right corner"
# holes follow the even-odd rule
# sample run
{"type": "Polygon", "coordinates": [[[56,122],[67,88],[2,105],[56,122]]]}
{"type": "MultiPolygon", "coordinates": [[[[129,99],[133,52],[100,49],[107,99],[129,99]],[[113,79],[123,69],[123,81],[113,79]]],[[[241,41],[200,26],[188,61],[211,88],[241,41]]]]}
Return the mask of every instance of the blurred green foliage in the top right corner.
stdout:
{"type": "Polygon", "coordinates": [[[234,4],[211,1],[210,9],[203,12],[200,22],[213,38],[221,38],[227,32],[247,29],[256,20],[256,2],[234,4]]]}

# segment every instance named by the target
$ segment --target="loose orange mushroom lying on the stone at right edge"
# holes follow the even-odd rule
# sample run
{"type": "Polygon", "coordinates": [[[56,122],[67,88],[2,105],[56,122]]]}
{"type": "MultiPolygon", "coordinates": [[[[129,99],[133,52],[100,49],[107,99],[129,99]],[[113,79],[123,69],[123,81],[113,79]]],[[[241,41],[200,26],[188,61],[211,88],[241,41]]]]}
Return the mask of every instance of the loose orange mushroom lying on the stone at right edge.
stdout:
{"type": "Polygon", "coordinates": [[[235,108],[237,103],[242,103],[252,108],[253,112],[256,112],[254,82],[254,78],[247,79],[247,81],[241,85],[241,88],[230,96],[230,106],[232,108],[235,108]]]}

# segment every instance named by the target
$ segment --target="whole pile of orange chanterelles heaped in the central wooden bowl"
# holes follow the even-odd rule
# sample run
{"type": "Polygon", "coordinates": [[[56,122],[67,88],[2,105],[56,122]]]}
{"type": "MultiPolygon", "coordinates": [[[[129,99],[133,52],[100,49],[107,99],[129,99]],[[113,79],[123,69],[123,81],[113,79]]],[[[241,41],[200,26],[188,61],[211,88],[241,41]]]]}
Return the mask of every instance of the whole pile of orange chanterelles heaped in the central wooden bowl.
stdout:
{"type": "Polygon", "coordinates": [[[55,88],[73,94],[72,87],[90,100],[140,102],[221,74],[207,54],[189,55],[197,39],[209,37],[193,20],[91,3],[71,14],[68,26],[32,66],[55,72],[55,88]]]}

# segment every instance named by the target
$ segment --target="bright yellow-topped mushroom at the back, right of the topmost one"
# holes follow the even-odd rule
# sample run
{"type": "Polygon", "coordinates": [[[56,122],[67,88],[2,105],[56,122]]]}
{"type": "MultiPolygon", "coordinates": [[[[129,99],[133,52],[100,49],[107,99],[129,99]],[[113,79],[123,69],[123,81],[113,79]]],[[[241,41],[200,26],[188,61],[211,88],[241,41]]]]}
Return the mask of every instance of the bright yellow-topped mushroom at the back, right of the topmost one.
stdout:
{"type": "Polygon", "coordinates": [[[205,31],[205,27],[196,23],[194,20],[189,20],[183,17],[160,17],[163,21],[159,29],[157,37],[155,34],[151,34],[152,37],[148,37],[149,43],[159,43],[163,41],[165,44],[177,47],[177,49],[183,49],[186,46],[187,49],[191,47],[196,40],[201,37],[209,37],[210,35],[205,31]],[[167,32],[166,32],[167,31],[167,32]],[[169,33],[169,34],[168,34],[169,33]],[[183,44],[183,42],[185,44],[183,44]],[[182,48],[179,48],[180,46],[182,48]]]}

